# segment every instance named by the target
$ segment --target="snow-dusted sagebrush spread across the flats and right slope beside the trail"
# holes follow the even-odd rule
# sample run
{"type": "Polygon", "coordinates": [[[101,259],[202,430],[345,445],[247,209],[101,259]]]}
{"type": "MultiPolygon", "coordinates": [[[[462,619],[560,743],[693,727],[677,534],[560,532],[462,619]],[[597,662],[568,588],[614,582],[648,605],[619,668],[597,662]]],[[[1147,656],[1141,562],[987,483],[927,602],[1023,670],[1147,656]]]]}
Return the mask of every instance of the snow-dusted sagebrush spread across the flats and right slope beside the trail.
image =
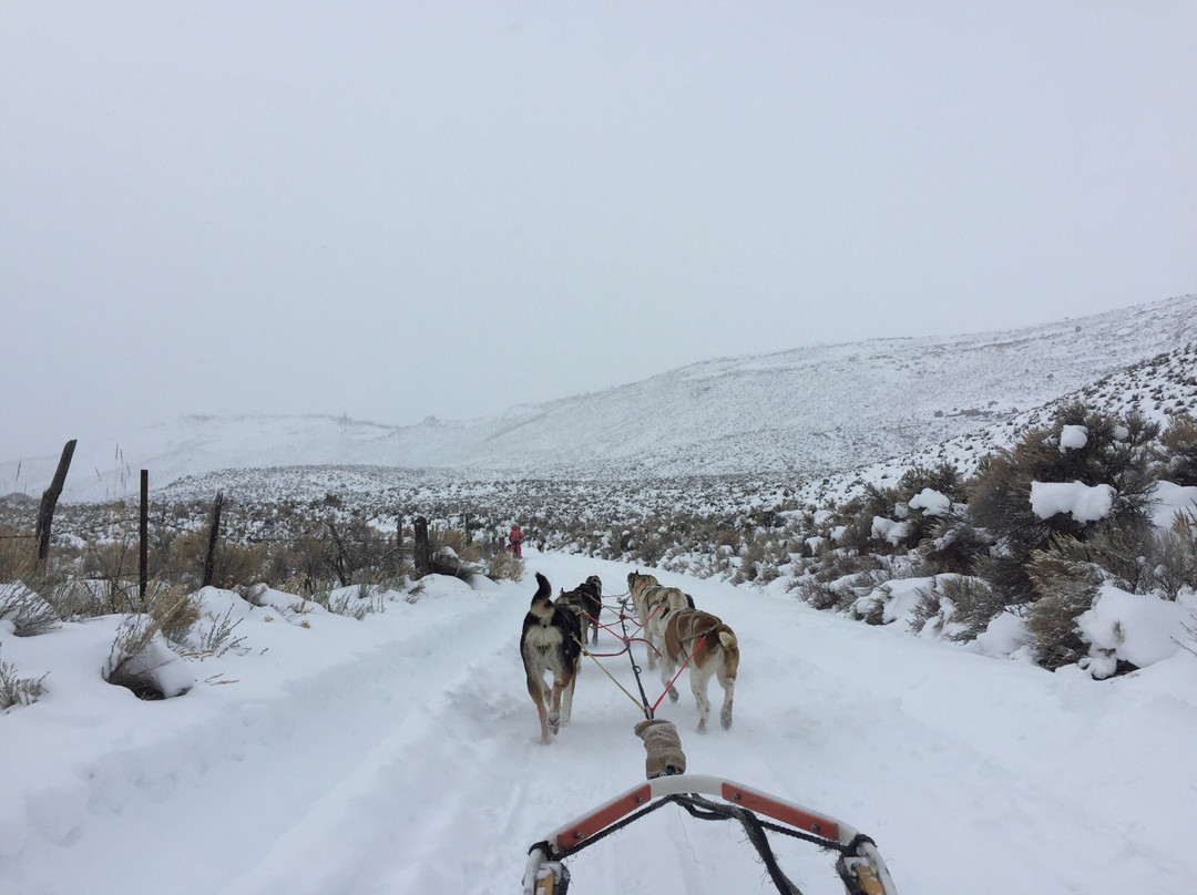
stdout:
{"type": "Polygon", "coordinates": [[[438,571],[518,579],[502,546],[518,520],[533,548],[782,589],[862,622],[1107,676],[1135,668],[1137,653],[1078,620],[1111,589],[1195,602],[1195,371],[1187,343],[967,434],[804,479],[378,465],[190,476],[152,494],[148,596],[133,501],[60,506],[40,565],[36,503],[11,494],[0,503],[0,619],[17,634],[89,615],[147,619],[114,656],[158,633],[186,640],[220,492],[213,583],[250,596],[277,590],[358,617],[381,611],[384,593],[418,598],[417,517],[431,523],[438,571]]]}

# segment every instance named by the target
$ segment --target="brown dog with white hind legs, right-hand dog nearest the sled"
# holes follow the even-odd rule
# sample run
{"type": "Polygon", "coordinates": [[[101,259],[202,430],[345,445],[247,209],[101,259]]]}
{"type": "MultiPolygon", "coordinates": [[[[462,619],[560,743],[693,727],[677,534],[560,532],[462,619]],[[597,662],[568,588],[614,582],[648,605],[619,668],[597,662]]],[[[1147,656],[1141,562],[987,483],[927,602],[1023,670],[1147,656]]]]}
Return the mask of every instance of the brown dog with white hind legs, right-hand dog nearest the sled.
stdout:
{"type": "Polygon", "coordinates": [[[718,616],[695,609],[667,609],[663,627],[661,683],[669,688],[670,701],[678,701],[678,690],[670,684],[674,672],[693,652],[689,689],[698,702],[698,730],[700,733],[706,731],[706,719],[711,714],[711,700],[706,695],[711,675],[723,687],[719,722],[724,730],[730,730],[731,699],[740,669],[740,644],[735,633],[718,616]]]}

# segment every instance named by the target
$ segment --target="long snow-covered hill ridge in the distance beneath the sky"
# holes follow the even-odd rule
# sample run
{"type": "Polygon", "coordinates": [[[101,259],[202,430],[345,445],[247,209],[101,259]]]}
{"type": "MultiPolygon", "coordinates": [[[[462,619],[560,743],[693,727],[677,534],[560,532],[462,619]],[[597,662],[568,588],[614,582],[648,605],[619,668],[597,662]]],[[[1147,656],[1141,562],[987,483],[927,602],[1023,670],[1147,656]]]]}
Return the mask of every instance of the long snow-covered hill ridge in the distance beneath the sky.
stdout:
{"type": "MultiPolygon", "coordinates": [[[[186,416],[117,445],[80,438],[65,499],[221,469],[372,465],[473,477],[784,474],[818,479],[994,431],[1017,414],[1197,342],[1197,296],[1045,327],[824,345],[694,364],[470,421],[186,416]]],[[[435,373],[433,373],[435,375],[435,373]]],[[[57,449],[0,464],[40,494],[57,449]]]]}

